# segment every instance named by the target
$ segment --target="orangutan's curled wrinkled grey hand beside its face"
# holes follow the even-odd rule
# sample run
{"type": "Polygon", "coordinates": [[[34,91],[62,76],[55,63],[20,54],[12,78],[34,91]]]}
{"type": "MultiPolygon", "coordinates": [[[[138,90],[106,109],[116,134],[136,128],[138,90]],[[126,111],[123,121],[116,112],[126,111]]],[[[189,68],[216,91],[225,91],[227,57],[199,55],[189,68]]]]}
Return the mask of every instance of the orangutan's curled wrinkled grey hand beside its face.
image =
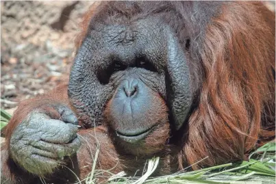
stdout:
{"type": "Polygon", "coordinates": [[[64,157],[76,153],[81,144],[73,111],[61,105],[53,108],[61,114],[60,120],[33,111],[16,127],[10,140],[14,161],[40,176],[53,172],[64,157]]]}

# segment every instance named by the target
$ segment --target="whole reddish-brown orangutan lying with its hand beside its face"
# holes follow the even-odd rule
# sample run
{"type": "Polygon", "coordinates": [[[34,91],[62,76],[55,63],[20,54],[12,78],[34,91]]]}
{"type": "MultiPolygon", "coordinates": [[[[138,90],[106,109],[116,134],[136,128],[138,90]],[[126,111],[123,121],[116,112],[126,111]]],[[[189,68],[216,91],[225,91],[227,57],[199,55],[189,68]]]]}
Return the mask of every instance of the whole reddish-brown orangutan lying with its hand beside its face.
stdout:
{"type": "Polygon", "coordinates": [[[261,2],[101,1],[81,29],[68,82],[8,123],[1,181],[138,176],[152,157],[160,176],[275,139],[275,14],[261,2]]]}

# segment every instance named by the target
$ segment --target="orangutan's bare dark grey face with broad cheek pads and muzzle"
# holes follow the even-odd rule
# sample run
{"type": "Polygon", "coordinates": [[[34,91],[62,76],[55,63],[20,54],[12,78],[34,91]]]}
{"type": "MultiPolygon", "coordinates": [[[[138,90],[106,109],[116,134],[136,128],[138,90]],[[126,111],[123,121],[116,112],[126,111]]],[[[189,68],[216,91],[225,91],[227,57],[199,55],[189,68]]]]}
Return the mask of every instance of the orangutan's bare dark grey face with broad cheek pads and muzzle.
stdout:
{"type": "Polygon", "coordinates": [[[126,142],[145,139],[160,123],[152,120],[161,105],[156,96],[170,107],[174,129],[184,123],[192,104],[186,57],[159,18],[91,27],[71,70],[68,94],[96,125],[112,98],[110,127],[126,142]]]}

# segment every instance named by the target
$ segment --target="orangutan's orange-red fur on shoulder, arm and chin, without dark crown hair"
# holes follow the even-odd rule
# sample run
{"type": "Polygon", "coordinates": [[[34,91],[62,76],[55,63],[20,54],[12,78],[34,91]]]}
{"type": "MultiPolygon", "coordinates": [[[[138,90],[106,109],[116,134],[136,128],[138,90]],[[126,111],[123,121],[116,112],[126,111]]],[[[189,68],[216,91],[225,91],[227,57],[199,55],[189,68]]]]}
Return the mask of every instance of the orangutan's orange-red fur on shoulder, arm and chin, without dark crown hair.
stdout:
{"type": "MultiPolygon", "coordinates": [[[[260,3],[237,1],[231,5],[231,8],[223,7],[221,14],[208,23],[200,51],[205,79],[199,105],[189,118],[188,131],[181,133],[182,148],[167,146],[166,152],[159,155],[162,157],[159,174],[172,172],[173,163],[183,169],[184,165],[205,157],[208,158],[192,168],[244,159],[257,144],[275,137],[272,72],[275,70],[275,15],[260,3]]],[[[94,11],[100,11],[96,8],[97,5],[88,11],[81,24],[83,31],[77,37],[77,48],[86,36],[94,11]]],[[[7,146],[14,128],[32,109],[43,109],[49,103],[70,105],[66,88],[64,84],[49,94],[23,101],[6,128],[7,146]]],[[[166,116],[165,111],[163,115],[166,116]]],[[[156,138],[161,140],[160,144],[166,144],[168,131],[168,124],[164,124],[147,138],[147,144],[150,146],[150,139],[156,138]]],[[[139,163],[147,159],[141,157],[136,161],[136,157],[121,154],[109,140],[104,125],[81,130],[79,135],[87,140],[77,155],[81,179],[91,170],[96,137],[101,145],[98,168],[108,170],[116,166],[112,172],[131,170],[131,166],[142,168],[139,163]],[[86,165],[89,167],[84,168],[86,165]]]]}

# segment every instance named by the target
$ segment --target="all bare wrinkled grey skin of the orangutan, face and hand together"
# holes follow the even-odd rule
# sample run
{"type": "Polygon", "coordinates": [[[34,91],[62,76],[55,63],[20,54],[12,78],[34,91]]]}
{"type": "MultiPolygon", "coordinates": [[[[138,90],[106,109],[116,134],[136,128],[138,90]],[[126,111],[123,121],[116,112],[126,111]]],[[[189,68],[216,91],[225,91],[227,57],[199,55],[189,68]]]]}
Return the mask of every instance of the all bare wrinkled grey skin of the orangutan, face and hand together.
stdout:
{"type": "MultiPolygon", "coordinates": [[[[71,104],[77,114],[88,117],[86,127],[105,124],[107,119],[121,152],[151,157],[164,149],[168,138],[166,105],[171,107],[175,129],[188,116],[192,89],[186,57],[171,28],[159,18],[130,26],[95,23],[95,27],[71,69],[71,104]],[[158,138],[155,134],[162,131],[158,138]]],[[[12,133],[12,159],[27,172],[47,176],[79,148],[77,118],[71,109],[60,106],[52,107],[60,119],[51,118],[47,111],[32,111],[12,133]]]]}

